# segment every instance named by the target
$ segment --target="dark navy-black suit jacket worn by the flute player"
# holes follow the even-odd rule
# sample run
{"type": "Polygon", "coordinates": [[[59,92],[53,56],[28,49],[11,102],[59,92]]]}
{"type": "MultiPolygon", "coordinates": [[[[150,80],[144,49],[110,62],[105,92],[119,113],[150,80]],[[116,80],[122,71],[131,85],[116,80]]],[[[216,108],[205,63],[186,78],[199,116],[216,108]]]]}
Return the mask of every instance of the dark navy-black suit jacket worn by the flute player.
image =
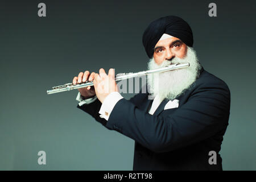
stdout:
{"type": "Polygon", "coordinates": [[[164,100],[151,115],[148,93],[123,98],[108,121],[98,114],[99,100],[77,107],[135,140],[134,170],[222,170],[218,152],[229,120],[228,86],[202,68],[191,88],[176,99],[179,107],[164,110],[164,100]],[[209,164],[210,151],[216,152],[217,164],[209,164]]]}

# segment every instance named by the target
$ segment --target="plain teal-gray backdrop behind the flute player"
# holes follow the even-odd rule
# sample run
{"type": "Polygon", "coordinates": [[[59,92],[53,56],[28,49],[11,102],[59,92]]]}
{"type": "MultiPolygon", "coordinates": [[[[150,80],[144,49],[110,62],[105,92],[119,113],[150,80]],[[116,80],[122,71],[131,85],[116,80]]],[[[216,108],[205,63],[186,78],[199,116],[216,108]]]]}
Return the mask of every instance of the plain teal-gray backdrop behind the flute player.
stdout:
{"type": "Polygon", "coordinates": [[[255,7],[255,1],[1,1],[0,169],[131,170],[134,140],[77,109],[76,90],[46,90],[85,70],[145,70],[144,29],[177,15],[192,27],[203,67],[231,90],[223,169],[255,170],[255,7]],[[45,18],[38,17],[40,2],[45,18]],[[210,2],[217,17],[208,16],[210,2]],[[46,165],[37,162],[40,150],[46,165]]]}

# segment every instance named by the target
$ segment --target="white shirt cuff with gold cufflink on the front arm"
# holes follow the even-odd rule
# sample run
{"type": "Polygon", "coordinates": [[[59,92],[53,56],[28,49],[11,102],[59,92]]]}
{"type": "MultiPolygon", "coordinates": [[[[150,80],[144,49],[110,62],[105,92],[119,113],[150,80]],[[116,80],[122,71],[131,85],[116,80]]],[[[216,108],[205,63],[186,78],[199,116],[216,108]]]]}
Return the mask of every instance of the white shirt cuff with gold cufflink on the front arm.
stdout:
{"type": "Polygon", "coordinates": [[[100,113],[100,117],[101,118],[105,118],[106,121],[108,121],[109,116],[112,112],[112,110],[114,109],[115,104],[117,104],[117,102],[119,100],[121,100],[123,97],[121,96],[121,94],[119,94],[119,92],[112,92],[110,93],[104,100],[104,102],[101,105],[101,109],[98,113],[100,113]]]}

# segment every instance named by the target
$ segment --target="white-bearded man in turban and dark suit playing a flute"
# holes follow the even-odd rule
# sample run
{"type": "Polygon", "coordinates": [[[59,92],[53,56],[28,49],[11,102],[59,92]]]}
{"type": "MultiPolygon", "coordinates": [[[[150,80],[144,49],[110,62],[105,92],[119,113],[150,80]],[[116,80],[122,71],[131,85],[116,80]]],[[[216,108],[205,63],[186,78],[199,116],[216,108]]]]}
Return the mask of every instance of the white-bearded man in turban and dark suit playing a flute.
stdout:
{"type": "Polygon", "coordinates": [[[222,170],[218,152],[228,126],[230,92],[201,67],[191,27],[177,16],[159,18],[144,31],[143,46],[151,58],[149,69],[190,67],[149,77],[150,93],[129,101],[118,93],[113,69],[108,75],[102,68],[99,74],[81,72],[73,83],[94,80],[94,87],[79,89],[77,107],[135,140],[134,170],[222,170]]]}

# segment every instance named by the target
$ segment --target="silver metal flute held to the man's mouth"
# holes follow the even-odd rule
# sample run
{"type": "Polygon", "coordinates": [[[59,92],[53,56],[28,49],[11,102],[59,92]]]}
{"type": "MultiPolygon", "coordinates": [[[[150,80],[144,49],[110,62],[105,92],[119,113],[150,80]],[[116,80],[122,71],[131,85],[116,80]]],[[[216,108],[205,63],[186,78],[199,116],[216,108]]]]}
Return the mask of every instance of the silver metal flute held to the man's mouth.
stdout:
{"type": "MultiPolygon", "coordinates": [[[[167,65],[166,67],[163,67],[163,68],[156,68],[156,69],[151,69],[148,71],[142,71],[142,72],[138,72],[138,73],[118,73],[117,75],[115,75],[115,81],[125,80],[125,79],[139,77],[139,76],[146,76],[151,73],[172,71],[175,69],[181,69],[181,68],[187,68],[187,67],[189,67],[189,63],[171,64],[171,65],[167,65]]],[[[53,94],[53,93],[59,93],[59,92],[73,90],[73,89],[80,89],[80,88],[84,88],[87,86],[93,86],[93,81],[85,81],[85,82],[82,82],[81,84],[68,83],[68,84],[64,84],[64,85],[53,86],[52,90],[47,90],[46,92],[47,92],[47,94],[53,94]]]]}

